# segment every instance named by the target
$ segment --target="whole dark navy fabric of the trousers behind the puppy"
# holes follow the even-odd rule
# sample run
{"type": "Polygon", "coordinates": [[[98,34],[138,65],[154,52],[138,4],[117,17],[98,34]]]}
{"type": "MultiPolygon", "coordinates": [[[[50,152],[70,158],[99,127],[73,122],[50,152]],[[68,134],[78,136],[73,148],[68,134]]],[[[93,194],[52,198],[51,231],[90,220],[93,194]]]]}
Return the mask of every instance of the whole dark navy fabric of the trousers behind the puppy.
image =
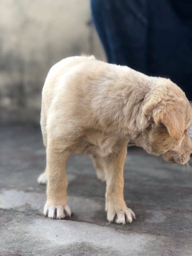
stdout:
{"type": "Polygon", "coordinates": [[[192,100],[191,0],[91,0],[108,62],[170,78],[192,100]]]}

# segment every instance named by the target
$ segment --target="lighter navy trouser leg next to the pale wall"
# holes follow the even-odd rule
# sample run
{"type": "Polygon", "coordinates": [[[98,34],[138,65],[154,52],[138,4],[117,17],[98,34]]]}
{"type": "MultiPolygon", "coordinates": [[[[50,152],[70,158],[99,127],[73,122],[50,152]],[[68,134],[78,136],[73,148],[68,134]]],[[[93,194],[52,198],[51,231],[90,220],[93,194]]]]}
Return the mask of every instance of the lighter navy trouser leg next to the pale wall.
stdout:
{"type": "Polygon", "coordinates": [[[146,73],[147,0],[91,0],[92,17],[108,62],[146,73]]]}

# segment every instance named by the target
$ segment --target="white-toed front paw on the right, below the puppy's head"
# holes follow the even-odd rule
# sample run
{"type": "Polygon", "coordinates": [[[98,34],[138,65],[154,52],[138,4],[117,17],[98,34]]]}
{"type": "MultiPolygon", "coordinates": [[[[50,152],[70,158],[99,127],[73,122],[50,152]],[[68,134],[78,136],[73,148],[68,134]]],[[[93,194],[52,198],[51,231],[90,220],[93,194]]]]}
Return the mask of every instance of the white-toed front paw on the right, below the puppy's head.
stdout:
{"type": "Polygon", "coordinates": [[[124,208],[120,211],[109,210],[107,212],[107,219],[109,223],[115,222],[125,225],[126,223],[132,223],[135,220],[135,213],[130,208],[124,208]]]}

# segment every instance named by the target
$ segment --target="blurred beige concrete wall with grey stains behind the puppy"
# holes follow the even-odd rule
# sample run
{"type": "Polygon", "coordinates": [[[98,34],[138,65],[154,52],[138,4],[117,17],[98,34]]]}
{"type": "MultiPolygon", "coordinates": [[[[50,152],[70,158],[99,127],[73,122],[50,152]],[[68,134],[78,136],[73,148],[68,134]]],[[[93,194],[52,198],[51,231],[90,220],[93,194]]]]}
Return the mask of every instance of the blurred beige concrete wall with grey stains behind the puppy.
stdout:
{"type": "Polygon", "coordinates": [[[0,31],[1,123],[39,123],[44,79],[58,60],[105,59],[89,0],[2,0],[0,31]]]}

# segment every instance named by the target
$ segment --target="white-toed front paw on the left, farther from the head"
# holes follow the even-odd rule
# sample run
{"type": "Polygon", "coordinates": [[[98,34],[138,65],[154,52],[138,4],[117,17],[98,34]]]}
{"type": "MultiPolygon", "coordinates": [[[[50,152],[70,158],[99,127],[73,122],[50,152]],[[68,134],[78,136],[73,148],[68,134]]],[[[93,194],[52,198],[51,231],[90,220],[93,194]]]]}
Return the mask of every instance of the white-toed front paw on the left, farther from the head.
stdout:
{"type": "Polygon", "coordinates": [[[71,209],[68,205],[64,206],[44,206],[44,215],[51,219],[64,219],[65,217],[71,217],[71,209]]]}

